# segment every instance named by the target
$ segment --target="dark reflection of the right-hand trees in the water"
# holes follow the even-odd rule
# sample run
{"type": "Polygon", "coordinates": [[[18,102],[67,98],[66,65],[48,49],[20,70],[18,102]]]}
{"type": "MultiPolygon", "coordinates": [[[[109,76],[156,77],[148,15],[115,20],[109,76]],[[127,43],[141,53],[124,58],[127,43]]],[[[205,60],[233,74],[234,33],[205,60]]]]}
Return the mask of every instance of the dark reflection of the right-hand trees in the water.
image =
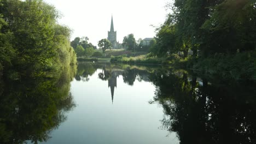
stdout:
{"type": "Polygon", "coordinates": [[[156,71],[154,100],[164,107],[163,128],[181,143],[255,143],[255,83],[203,85],[186,73],[156,71]],[[188,81],[191,80],[191,81],[188,81]]]}

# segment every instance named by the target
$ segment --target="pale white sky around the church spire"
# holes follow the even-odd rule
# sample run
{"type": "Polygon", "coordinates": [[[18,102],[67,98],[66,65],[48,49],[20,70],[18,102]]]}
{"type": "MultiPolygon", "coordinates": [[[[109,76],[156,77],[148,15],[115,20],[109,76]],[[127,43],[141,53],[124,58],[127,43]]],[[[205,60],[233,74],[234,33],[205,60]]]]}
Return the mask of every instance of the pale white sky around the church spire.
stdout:
{"type": "Polygon", "coordinates": [[[155,28],[164,22],[168,0],[44,0],[53,4],[62,14],[59,23],[73,30],[75,37],[88,37],[89,42],[107,38],[113,14],[117,41],[123,42],[125,35],[133,33],[138,38],[155,36],[155,28]]]}

